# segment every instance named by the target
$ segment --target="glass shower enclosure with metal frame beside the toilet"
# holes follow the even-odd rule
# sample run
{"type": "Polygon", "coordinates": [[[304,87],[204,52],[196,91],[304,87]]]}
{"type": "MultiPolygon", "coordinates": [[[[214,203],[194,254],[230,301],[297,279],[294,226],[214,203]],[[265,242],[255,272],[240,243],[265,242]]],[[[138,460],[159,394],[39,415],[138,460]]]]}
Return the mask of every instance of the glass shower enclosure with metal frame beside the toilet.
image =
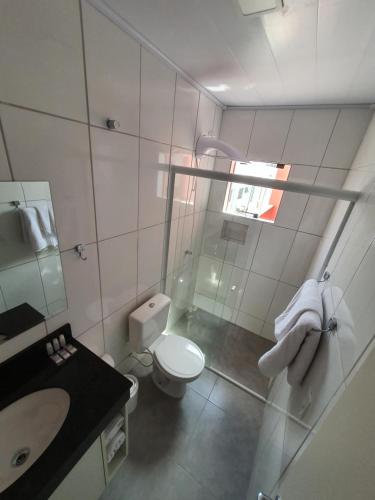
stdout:
{"type": "MultiPolygon", "coordinates": [[[[249,477],[250,500],[257,498],[259,491],[275,494],[278,480],[308,439],[319,415],[314,412],[314,402],[309,396],[306,399],[303,391],[288,386],[284,373],[268,380],[258,370],[259,357],[273,345],[270,340],[273,319],[297,288],[288,288],[279,280],[272,285],[273,295],[280,294],[279,309],[272,310],[266,304],[267,281],[258,283],[258,274],[253,271],[254,258],[262,262],[266,253],[260,232],[267,232],[270,223],[234,215],[223,210],[222,204],[215,206],[213,193],[221,193],[222,199],[225,198],[228,183],[235,186],[231,192],[237,195],[241,190],[247,193],[244,188],[250,186],[278,191],[280,196],[283,192],[304,193],[347,204],[337,234],[324,250],[321,269],[315,272],[317,279],[326,269],[359,193],[207,169],[170,167],[163,262],[164,292],[172,299],[168,333],[183,335],[197,343],[205,353],[207,369],[262,404],[262,412],[257,414],[257,444],[249,477]],[[181,210],[185,211],[183,217],[181,210]],[[253,281],[249,287],[250,275],[253,281]],[[245,293],[256,298],[263,319],[259,314],[244,311],[245,293]]],[[[277,240],[274,246],[275,258],[266,262],[270,269],[281,252],[277,250],[277,240]]],[[[325,304],[325,309],[328,308],[325,304]]]]}

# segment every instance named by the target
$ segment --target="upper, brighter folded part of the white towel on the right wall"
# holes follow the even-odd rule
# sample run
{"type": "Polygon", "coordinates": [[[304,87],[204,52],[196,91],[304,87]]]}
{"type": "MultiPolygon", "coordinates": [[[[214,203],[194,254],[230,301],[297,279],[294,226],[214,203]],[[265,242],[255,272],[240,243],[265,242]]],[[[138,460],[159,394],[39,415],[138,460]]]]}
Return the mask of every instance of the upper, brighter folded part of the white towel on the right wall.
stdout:
{"type": "Polygon", "coordinates": [[[315,311],[323,320],[323,302],[316,280],[307,280],[294,295],[283,313],[275,319],[275,337],[281,340],[307,311],[315,311]]]}

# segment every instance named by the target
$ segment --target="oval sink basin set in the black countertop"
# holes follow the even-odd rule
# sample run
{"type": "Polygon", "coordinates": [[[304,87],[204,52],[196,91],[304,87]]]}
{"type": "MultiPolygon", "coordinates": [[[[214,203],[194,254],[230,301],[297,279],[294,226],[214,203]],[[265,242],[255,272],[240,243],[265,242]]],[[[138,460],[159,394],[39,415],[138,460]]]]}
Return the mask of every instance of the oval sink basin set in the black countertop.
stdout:
{"type": "Polygon", "coordinates": [[[48,448],[69,411],[63,389],[36,391],[0,411],[0,493],[48,448]]]}

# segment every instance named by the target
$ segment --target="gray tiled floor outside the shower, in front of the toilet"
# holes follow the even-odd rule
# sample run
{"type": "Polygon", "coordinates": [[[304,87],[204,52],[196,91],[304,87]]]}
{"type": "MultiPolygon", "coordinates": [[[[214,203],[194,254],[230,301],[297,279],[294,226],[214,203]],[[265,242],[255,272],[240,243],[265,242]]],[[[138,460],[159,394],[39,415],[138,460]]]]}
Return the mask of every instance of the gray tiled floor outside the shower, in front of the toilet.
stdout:
{"type": "Polygon", "coordinates": [[[130,454],[101,500],[245,500],[263,403],[208,370],[181,400],[134,372],[130,454]]]}

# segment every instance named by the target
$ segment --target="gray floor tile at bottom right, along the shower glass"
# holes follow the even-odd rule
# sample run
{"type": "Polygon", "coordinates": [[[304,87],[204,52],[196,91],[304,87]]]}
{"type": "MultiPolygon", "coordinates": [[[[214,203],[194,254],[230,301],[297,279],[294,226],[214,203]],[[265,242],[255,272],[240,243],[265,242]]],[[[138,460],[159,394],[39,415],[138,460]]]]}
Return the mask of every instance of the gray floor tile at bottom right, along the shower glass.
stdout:
{"type": "Polygon", "coordinates": [[[257,445],[257,430],[207,403],[180,465],[220,500],[244,500],[257,445]]]}

